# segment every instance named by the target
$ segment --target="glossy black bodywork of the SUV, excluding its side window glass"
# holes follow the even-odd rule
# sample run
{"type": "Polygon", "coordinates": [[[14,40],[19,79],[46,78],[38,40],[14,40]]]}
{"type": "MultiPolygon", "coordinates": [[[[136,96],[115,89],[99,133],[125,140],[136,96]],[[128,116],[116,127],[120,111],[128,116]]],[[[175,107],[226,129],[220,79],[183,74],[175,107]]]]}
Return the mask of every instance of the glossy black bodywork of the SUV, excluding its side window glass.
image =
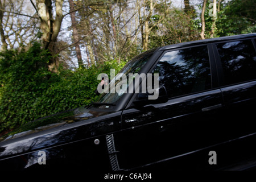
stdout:
{"type": "Polygon", "coordinates": [[[82,106],[38,119],[0,139],[0,169],[211,170],[254,158],[256,81],[225,85],[215,44],[255,37],[155,49],[141,73],[151,73],[167,51],[207,46],[211,88],[155,103],[136,102],[138,94],[123,94],[116,105],[82,106]],[[96,139],[100,143],[94,143],[96,139]],[[215,166],[208,163],[212,150],[218,155],[215,166]],[[46,152],[46,165],[38,164],[39,151],[46,152]]]}

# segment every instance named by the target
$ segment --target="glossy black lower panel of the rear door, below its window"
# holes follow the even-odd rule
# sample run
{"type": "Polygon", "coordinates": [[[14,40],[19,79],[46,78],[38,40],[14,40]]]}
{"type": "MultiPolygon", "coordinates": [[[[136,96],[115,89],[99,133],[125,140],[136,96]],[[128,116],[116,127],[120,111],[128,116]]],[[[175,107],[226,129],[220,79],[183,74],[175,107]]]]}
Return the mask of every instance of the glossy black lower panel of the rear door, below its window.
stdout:
{"type": "Polygon", "coordinates": [[[228,134],[243,136],[255,133],[256,81],[224,86],[224,121],[230,121],[228,134]]]}

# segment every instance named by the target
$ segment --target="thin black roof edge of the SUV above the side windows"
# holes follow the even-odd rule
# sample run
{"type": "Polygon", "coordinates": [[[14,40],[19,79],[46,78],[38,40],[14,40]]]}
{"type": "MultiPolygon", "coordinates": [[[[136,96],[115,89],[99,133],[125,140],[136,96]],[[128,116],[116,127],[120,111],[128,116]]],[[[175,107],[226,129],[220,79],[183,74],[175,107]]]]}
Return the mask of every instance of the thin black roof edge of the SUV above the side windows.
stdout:
{"type": "Polygon", "coordinates": [[[187,46],[196,46],[196,45],[200,45],[200,44],[207,44],[207,43],[214,43],[214,42],[221,42],[221,41],[228,41],[228,40],[236,40],[236,39],[246,39],[246,38],[256,38],[256,33],[224,36],[224,37],[220,37],[220,38],[195,40],[195,41],[191,41],[191,42],[172,44],[172,45],[169,45],[169,46],[159,47],[157,49],[157,51],[164,51],[164,50],[173,49],[173,48],[180,48],[180,47],[187,47],[187,46]]]}

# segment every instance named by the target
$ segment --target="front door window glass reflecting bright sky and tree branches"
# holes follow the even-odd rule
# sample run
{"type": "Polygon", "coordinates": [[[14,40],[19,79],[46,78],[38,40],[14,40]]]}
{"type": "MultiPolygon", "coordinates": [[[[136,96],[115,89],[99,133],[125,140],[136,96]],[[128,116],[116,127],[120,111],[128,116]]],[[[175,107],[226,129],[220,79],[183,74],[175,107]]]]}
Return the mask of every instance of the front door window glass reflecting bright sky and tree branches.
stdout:
{"type": "Polygon", "coordinates": [[[169,97],[211,88],[207,46],[170,51],[163,55],[152,73],[159,73],[159,86],[169,97]]]}

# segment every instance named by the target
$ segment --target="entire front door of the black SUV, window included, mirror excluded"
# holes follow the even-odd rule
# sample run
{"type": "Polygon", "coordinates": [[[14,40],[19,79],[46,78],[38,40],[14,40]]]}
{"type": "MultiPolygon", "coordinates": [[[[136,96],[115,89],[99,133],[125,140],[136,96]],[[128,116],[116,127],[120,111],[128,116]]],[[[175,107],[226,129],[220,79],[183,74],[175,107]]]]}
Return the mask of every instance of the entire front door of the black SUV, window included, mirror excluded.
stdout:
{"type": "MultiPolygon", "coordinates": [[[[208,45],[167,50],[156,61],[150,72],[159,74],[159,86],[166,88],[169,99],[123,111],[120,168],[181,159],[224,140],[218,127],[222,96],[211,50],[208,45]]],[[[201,159],[208,163],[208,154],[201,159]]],[[[178,162],[189,163],[187,158],[178,162]]]]}

